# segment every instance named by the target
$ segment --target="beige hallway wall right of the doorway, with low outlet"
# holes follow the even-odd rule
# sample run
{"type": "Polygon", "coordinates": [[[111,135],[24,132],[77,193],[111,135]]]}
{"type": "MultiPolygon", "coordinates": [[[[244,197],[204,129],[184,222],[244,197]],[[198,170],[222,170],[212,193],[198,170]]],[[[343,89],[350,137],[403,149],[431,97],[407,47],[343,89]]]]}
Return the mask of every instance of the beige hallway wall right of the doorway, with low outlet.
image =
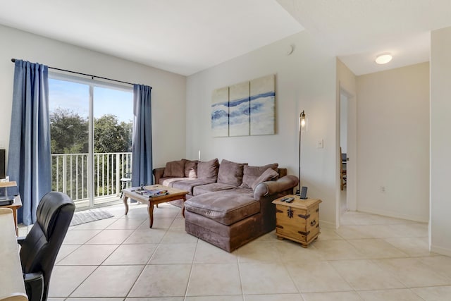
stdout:
{"type": "Polygon", "coordinates": [[[358,76],[357,116],[357,209],[427,222],[429,63],[358,76]]]}

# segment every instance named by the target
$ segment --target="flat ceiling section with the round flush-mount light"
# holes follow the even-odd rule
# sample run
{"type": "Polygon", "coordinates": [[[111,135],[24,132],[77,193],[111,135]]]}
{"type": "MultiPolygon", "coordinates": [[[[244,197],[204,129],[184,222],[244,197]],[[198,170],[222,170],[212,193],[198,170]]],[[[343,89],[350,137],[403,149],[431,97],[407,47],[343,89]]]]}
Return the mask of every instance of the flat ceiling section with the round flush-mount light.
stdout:
{"type": "Polygon", "coordinates": [[[451,0],[277,1],[356,75],[429,61],[431,30],[451,26],[451,0]]]}

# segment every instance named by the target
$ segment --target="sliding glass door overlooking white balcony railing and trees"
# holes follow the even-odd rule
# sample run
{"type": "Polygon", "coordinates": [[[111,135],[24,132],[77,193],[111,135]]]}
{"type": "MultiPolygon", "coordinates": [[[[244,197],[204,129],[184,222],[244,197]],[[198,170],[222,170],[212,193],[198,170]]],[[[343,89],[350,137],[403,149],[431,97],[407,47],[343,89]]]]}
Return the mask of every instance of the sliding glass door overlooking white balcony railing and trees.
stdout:
{"type": "Polygon", "coordinates": [[[52,190],[78,208],[117,202],[131,172],[132,89],[49,76],[52,190]]]}

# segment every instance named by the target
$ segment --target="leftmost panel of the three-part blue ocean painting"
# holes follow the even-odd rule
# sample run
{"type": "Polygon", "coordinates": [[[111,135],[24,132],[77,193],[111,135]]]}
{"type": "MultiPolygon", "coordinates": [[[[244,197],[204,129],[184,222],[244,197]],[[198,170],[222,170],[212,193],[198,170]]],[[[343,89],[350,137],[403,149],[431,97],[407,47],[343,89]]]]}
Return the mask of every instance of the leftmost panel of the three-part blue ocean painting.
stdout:
{"type": "Polygon", "coordinates": [[[228,137],[228,87],[211,95],[211,132],[213,137],[228,137]]]}

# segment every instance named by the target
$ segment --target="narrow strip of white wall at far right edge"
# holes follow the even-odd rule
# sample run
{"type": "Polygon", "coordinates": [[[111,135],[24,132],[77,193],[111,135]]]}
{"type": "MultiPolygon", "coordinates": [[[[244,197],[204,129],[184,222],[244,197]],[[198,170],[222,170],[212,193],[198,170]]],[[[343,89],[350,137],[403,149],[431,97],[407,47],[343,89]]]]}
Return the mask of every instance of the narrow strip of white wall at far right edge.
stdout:
{"type": "Polygon", "coordinates": [[[451,256],[451,27],[431,33],[431,251],[451,256]]]}

